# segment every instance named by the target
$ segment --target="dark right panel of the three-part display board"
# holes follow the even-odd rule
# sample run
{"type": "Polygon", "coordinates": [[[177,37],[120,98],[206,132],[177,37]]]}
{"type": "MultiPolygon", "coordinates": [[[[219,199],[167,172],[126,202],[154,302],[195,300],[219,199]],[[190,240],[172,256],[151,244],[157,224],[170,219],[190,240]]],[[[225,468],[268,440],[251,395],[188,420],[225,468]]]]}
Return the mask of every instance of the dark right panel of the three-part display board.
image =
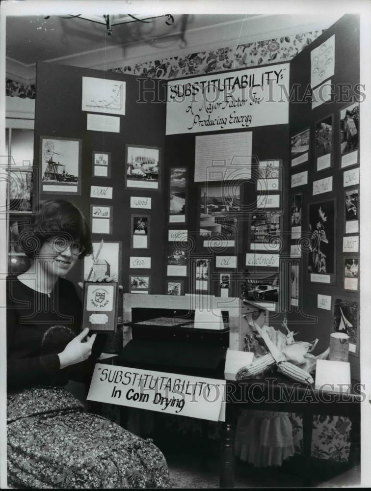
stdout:
{"type": "MultiPolygon", "coordinates": [[[[289,322],[302,340],[349,334],[359,380],[359,17],[345,15],[291,61],[290,181],[293,283],[289,322]],[[328,88],[326,88],[326,85],[328,88]],[[313,100],[311,92],[313,91],[313,100]],[[330,94],[330,97],[329,97],[330,94]]],[[[317,351],[317,350],[316,350],[317,351]]]]}

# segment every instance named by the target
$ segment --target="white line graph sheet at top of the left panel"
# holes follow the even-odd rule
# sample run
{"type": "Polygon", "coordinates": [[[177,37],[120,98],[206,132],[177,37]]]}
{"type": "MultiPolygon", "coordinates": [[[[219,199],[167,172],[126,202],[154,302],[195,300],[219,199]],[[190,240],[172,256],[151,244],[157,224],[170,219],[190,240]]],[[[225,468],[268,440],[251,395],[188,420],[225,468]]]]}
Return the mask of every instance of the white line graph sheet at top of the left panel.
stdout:
{"type": "Polygon", "coordinates": [[[81,110],[125,115],[126,83],[82,77],[81,110]]]}

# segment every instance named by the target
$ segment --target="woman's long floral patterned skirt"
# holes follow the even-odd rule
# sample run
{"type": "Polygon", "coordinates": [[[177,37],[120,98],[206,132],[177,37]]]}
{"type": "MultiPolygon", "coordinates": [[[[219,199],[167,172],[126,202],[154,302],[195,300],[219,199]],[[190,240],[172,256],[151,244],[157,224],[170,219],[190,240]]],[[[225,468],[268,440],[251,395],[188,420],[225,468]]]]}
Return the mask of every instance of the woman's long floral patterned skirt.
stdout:
{"type": "Polygon", "coordinates": [[[8,394],[8,484],[14,488],[169,488],[152,440],[84,412],[63,387],[8,394]]]}

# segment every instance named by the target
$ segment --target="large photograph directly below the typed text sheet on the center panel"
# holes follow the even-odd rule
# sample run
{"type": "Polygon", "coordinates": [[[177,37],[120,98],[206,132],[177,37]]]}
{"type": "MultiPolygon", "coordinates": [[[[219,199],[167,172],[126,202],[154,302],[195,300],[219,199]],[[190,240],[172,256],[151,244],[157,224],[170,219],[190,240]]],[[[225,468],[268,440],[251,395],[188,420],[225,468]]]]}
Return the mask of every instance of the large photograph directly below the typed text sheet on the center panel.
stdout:
{"type": "Polygon", "coordinates": [[[235,241],[240,211],[239,186],[202,186],[200,236],[235,241]]]}

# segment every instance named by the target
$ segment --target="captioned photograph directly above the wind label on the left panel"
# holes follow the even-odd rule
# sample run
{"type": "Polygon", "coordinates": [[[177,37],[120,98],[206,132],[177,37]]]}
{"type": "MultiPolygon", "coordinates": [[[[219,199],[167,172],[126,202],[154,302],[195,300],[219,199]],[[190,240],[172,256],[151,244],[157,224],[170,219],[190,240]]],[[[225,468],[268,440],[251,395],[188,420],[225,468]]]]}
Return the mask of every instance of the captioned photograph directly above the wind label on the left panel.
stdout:
{"type": "Polygon", "coordinates": [[[159,189],[160,149],[126,145],[126,186],[159,189]]]}

